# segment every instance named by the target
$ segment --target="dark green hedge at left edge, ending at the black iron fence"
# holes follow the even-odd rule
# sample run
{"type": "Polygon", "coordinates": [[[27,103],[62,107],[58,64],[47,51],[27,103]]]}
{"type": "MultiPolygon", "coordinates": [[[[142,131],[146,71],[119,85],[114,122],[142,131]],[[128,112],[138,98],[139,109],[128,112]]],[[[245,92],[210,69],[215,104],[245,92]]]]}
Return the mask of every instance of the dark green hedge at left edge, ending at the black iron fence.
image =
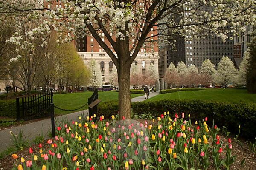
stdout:
{"type": "Polygon", "coordinates": [[[0,100],[0,116],[16,118],[15,102],[15,100],[0,100]]]}

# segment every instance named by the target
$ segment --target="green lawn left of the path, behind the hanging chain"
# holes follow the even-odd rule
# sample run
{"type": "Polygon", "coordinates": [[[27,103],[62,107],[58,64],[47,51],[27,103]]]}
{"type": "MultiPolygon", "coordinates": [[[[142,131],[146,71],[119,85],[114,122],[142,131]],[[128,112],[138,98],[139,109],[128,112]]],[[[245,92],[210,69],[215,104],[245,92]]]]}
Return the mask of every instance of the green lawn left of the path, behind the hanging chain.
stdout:
{"type": "MultiPolygon", "coordinates": [[[[53,95],[53,103],[55,106],[58,106],[60,108],[64,109],[76,109],[84,105],[88,102],[88,98],[92,96],[93,92],[84,92],[84,93],[69,93],[69,94],[54,94],[53,95]]],[[[98,99],[100,99],[102,102],[110,101],[110,100],[118,100],[118,92],[111,92],[111,91],[104,91],[104,92],[98,92],[99,96],[98,99]]],[[[141,96],[143,94],[131,94],[131,98],[141,96]]],[[[84,109],[87,109],[88,105],[84,106],[83,108],[77,110],[81,111],[84,109]]],[[[54,109],[54,113],[57,115],[60,114],[67,114],[67,113],[73,113],[76,111],[61,111],[57,108],[54,109]]]]}

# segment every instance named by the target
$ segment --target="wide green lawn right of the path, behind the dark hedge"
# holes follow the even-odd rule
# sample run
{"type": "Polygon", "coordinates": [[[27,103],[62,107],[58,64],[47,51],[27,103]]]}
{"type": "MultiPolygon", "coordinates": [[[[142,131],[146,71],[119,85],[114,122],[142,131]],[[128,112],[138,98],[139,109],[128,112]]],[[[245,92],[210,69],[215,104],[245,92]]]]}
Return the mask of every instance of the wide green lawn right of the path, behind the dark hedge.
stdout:
{"type": "Polygon", "coordinates": [[[248,94],[247,90],[238,89],[205,89],[200,91],[179,91],[159,94],[146,101],[161,99],[203,99],[228,102],[256,102],[256,94],[248,94]]]}

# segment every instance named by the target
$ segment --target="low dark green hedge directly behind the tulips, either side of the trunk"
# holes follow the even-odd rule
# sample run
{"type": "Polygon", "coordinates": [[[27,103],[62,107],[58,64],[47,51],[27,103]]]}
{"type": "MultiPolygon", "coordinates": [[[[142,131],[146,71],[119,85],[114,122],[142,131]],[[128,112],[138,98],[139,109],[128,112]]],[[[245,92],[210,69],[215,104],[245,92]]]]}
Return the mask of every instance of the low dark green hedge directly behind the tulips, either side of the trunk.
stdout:
{"type": "MultiPolygon", "coordinates": [[[[218,127],[225,126],[228,130],[238,133],[241,125],[241,135],[254,139],[256,137],[256,104],[245,102],[215,102],[205,100],[159,100],[152,102],[132,102],[132,113],[151,114],[159,116],[164,111],[174,113],[190,113],[191,119],[214,120],[218,127]]],[[[102,102],[98,106],[99,114],[110,117],[118,113],[118,102],[102,102]]],[[[209,122],[211,124],[212,122],[209,122]]]]}

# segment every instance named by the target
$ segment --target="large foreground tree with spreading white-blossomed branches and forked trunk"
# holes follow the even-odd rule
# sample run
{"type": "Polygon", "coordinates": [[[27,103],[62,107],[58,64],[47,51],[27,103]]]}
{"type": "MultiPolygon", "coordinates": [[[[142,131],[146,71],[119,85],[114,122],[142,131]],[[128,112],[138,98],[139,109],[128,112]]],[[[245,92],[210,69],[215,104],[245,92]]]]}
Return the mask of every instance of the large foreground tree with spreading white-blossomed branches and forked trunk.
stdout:
{"type": "MultiPolygon", "coordinates": [[[[254,0],[246,2],[244,0],[69,0],[65,2],[65,8],[56,10],[36,8],[43,12],[33,12],[33,15],[47,21],[52,29],[67,32],[67,37],[62,42],[72,40],[72,36],[77,37],[87,33],[96,39],[116,65],[119,81],[119,113],[120,117],[128,118],[131,112],[130,67],[145,43],[156,41],[154,37],[159,35],[172,42],[174,35],[192,39],[216,34],[225,41],[233,28],[243,31],[244,23],[254,24],[256,6],[254,0]],[[160,22],[166,16],[168,22],[160,22]],[[224,29],[228,25],[231,29],[224,29]],[[157,34],[150,36],[151,29],[155,29],[156,26],[168,28],[167,34],[159,30],[157,34]],[[108,41],[102,40],[99,35],[102,32],[108,41]],[[134,45],[130,46],[132,39],[135,40],[134,45]],[[114,55],[108,43],[112,45],[117,55],[114,55]]],[[[12,5],[12,1],[0,1],[2,13],[35,11],[25,4],[22,0],[15,5],[12,5]]],[[[233,34],[236,32],[233,31],[233,34]]]]}

